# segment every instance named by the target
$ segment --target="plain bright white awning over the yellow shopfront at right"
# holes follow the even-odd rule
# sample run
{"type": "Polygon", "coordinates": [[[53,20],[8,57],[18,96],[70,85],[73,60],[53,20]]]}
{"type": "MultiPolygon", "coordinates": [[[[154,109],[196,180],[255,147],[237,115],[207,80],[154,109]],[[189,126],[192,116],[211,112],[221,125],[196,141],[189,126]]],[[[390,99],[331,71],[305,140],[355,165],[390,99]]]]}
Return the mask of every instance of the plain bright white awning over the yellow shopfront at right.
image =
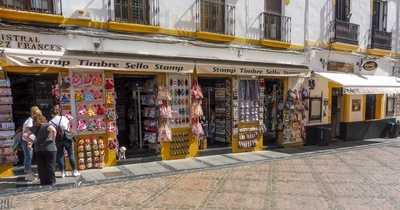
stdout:
{"type": "Polygon", "coordinates": [[[343,94],[400,93],[400,79],[397,77],[332,72],[315,72],[315,74],[342,86],[343,94]]]}

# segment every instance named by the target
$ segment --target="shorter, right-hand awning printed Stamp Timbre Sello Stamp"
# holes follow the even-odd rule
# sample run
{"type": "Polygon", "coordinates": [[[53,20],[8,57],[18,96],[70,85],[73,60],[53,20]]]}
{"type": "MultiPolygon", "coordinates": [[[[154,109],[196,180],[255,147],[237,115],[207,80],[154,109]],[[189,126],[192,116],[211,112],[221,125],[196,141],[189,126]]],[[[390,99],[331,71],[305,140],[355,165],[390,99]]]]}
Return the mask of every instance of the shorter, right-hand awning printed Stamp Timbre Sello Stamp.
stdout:
{"type": "Polygon", "coordinates": [[[197,74],[210,75],[242,75],[242,76],[272,76],[272,77],[309,77],[306,66],[260,64],[257,66],[230,64],[196,64],[197,74]]]}

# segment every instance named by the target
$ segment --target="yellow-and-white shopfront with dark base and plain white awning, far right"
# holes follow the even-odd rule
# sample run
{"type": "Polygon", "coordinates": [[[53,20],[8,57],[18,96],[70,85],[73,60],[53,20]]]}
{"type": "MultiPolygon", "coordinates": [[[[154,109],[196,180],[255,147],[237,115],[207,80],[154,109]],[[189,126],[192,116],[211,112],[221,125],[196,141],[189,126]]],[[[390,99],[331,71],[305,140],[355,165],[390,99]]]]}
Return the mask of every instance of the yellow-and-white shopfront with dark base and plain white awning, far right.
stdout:
{"type": "Polygon", "coordinates": [[[326,86],[319,90],[327,97],[322,109],[333,138],[384,137],[388,122],[395,121],[396,96],[400,93],[396,77],[316,72],[314,78],[326,86]]]}

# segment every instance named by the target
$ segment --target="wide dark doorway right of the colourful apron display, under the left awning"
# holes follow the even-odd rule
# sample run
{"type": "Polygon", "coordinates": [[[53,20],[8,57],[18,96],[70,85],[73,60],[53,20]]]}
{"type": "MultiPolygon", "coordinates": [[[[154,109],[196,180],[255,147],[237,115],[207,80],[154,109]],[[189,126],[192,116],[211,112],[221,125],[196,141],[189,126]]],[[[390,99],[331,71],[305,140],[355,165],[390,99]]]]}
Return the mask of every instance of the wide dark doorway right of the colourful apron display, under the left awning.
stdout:
{"type": "Polygon", "coordinates": [[[157,143],[158,120],[156,80],[152,76],[114,76],[118,141],[127,148],[126,157],[154,156],[159,153],[157,143]]]}

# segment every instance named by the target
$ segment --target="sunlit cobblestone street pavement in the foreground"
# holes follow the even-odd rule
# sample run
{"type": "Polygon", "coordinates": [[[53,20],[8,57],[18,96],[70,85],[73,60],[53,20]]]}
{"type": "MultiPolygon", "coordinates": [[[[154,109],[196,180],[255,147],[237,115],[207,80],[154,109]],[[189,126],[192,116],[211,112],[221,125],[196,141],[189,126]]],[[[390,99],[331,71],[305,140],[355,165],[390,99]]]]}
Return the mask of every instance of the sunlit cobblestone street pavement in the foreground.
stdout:
{"type": "Polygon", "coordinates": [[[24,210],[400,209],[399,154],[394,142],[0,201],[24,210]]]}

